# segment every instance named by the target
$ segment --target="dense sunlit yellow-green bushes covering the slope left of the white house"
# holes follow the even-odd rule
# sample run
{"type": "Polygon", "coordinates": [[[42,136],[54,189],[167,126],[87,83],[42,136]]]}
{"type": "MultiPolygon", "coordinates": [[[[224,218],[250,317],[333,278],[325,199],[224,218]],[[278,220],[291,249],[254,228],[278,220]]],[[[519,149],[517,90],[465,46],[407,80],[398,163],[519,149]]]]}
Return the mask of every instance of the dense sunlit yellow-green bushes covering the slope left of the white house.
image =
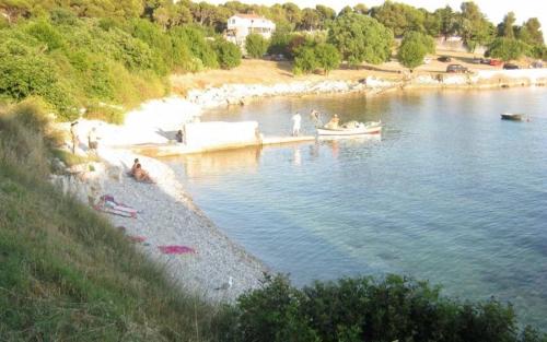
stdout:
{"type": "MultiPolygon", "coordinates": [[[[199,27],[166,32],[144,19],[124,20],[138,8],[133,2],[57,7],[44,0],[25,8],[40,17],[20,20],[0,31],[0,98],[42,96],[59,118],[71,120],[90,103],[130,108],[163,96],[170,72],[218,68],[219,59],[224,68],[238,63],[231,47],[223,46],[223,56],[218,57],[199,27]],[[119,12],[106,15],[106,9],[119,12]],[[105,16],[78,16],[95,11],[105,16]]],[[[23,15],[10,9],[14,17],[23,15]]],[[[120,121],[117,114],[102,117],[120,121]]]]}

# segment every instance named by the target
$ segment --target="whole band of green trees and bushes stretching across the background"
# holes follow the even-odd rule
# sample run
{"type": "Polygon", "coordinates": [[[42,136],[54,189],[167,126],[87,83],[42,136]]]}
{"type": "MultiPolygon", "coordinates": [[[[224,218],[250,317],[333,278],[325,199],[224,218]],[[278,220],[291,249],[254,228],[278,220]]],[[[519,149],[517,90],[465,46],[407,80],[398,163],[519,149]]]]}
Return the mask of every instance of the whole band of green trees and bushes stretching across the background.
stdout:
{"type": "Polygon", "coordinates": [[[510,12],[494,26],[474,2],[463,2],[459,11],[445,7],[429,12],[387,0],[336,13],[325,5],[301,9],[292,2],[0,0],[0,98],[42,96],[72,118],[82,107],[132,106],[161,96],[168,73],[240,63],[237,48],[222,38],[234,13],[272,20],[277,31],[271,39],[251,36],[247,52],[296,58],[296,72],[328,73],[338,59],[352,66],[384,62],[396,37],[405,37],[401,62],[414,68],[419,56],[431,51],[423,45],[431,39],[418,35],[459,35],[469,50],[486,45],[490,56],[504,60],[547,58],[537,19],[516,25],[510,12]]]}

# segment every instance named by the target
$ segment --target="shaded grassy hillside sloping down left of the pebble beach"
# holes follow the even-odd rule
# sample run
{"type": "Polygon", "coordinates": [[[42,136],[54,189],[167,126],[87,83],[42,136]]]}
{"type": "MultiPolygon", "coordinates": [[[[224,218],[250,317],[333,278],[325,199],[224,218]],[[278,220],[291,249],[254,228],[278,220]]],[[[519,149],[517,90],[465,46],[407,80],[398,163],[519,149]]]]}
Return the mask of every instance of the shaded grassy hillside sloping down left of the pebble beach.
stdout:
{"type": "Polygon", "coordinates": [[[44,113],[0,113],[0,340],[208,341],[216,308],[47,181],[44,113]]]}

